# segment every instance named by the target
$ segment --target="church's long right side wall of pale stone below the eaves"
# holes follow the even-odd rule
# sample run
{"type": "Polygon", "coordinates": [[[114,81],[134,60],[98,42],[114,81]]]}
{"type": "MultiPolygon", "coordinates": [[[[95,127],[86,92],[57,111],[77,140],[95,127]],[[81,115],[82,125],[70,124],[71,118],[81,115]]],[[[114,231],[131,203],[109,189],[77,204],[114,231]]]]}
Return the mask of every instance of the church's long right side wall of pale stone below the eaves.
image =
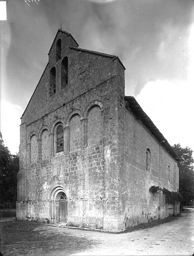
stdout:
{"type": "Polygon", "coordinates": [[[123,132],[124,166],[121,178],[120,214],[125,227],[179,213],[177,205],[166,205],[162,192],[152,194],[151,185],[178,189],[177,162],[129,110],[125,109],[123,132]],[[146,149],[150,166],[146,170],[146,149]]]}

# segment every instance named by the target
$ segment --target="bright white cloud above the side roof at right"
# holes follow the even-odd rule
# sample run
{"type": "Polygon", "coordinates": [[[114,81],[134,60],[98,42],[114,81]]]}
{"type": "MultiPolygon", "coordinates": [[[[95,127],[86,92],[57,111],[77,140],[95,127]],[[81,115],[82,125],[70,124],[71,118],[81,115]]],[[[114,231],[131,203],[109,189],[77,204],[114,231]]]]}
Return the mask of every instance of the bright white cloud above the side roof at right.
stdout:
{"type": "Polygon", "coordinates": [[[146,82],[136,100],[172,145],[180,143],[194,153],[194,23],[188,39],[187,80],[158,79],[146,82]]]}

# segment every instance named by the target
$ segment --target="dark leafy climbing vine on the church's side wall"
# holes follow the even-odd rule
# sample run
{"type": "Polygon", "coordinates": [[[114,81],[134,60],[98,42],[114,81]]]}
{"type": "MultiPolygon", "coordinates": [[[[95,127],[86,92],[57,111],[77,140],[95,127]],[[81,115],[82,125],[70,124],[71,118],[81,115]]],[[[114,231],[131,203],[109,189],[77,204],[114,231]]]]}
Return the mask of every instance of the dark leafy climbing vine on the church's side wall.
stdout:
{"type": "Polygon", "coordinates": [[[159,186],[151,186],[149,187],[149,191],[154,194],[158,190],[162,190],[163,194],[165,194],[165,203],[166,204],[175,204],[175,203],[181,203],[182,202],[182,195],[179,192],[169,191],[165,187],[161,189],[159,186]]]}

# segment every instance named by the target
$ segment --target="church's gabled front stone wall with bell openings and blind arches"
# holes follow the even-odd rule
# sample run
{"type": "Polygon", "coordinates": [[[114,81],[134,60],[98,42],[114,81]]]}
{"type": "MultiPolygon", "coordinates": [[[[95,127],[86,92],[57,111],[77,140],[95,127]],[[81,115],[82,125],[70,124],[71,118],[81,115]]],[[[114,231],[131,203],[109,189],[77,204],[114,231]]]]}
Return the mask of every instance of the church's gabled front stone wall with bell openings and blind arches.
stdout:
{"type": "Polygon", "coordinates": [[[49,62],[22,115],[17,217],[57,222],[57,210],[52,207],[58,206],[52,204],[58,202],[51,195],[61,187],[68,201],[68,221],[118,230],[118,104],[124,95],[124,69],[114,56],[74,46],[67,34],[57,34],[49,62]],[[58,38],[62,51],[56,61],[58,38]],[[68,84],[61,87],[64,56],[68,57],[68,84]],[[56,84],[50,96],[53,66],[56,84]],[[60,152],[58,126],[63,128],[60,152]]]}

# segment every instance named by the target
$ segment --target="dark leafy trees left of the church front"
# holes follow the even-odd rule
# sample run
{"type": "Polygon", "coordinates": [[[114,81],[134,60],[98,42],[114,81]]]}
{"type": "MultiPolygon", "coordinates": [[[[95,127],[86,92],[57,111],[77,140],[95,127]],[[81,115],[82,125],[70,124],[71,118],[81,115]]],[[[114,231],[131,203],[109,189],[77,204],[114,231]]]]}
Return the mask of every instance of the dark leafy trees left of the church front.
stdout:
{"type": "Polygon", "coordinates": [[[16,201],[19,156],[12,155],[0,140],[0,206],[16,201]]]}

